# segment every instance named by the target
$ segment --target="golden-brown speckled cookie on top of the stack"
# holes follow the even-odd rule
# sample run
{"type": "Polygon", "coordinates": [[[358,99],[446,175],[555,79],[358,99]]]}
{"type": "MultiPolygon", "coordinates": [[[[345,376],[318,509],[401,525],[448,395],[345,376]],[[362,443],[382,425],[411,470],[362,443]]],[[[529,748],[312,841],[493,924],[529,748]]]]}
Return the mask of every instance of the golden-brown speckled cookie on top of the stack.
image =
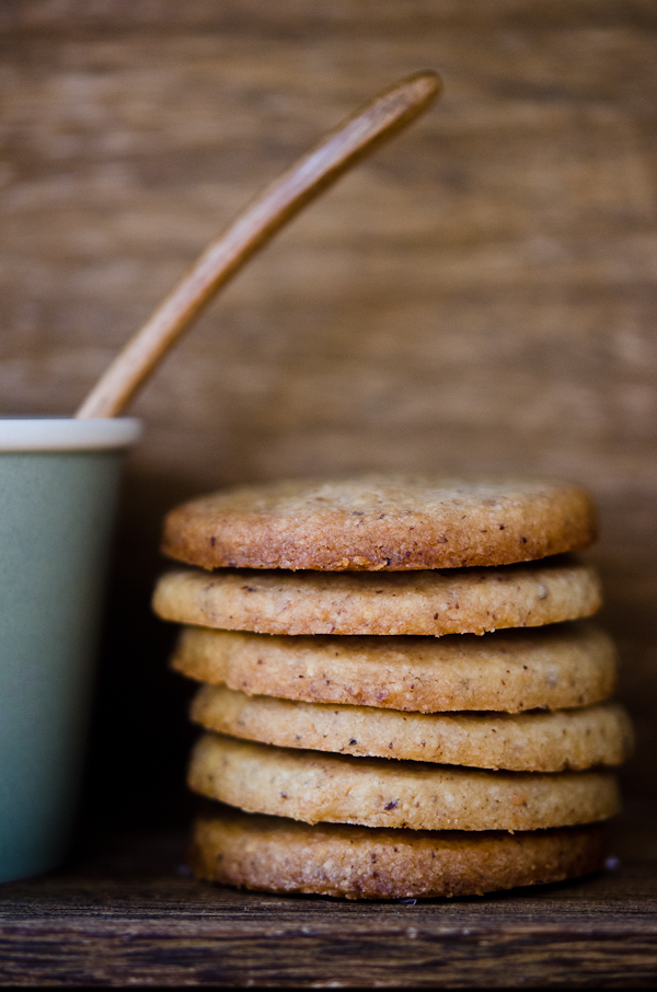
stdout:
{"type": "Polygon", "coordinates": [[[162,551],[204,568],[405,572],[531,562],[596,537],[592,499],[568,482],[369,475],[194,499],[166,517],[162,551]]]}

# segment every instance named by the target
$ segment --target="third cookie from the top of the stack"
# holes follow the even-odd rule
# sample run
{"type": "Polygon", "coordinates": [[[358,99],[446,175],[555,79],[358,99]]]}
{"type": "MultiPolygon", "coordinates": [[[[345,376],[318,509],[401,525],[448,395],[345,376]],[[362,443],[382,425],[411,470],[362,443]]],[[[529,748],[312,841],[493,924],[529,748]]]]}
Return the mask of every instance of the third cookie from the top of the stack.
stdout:
{"type": "Polygon", "coordinates": [[[252,695],[420,713],[564,710],[615,688],[612,641],[590,621],[485,637],[276,637],[191,626],[171,664],[252,695]]]}

